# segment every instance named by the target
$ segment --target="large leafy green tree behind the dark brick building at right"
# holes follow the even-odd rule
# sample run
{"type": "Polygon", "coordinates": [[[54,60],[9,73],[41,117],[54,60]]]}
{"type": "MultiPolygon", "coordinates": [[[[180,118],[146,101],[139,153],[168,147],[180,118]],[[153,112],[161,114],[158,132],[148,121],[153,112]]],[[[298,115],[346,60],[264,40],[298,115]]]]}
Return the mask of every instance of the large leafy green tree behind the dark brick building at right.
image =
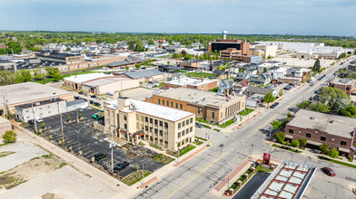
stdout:
{"type": "Polygon", "coordinates": [[[332,112],[339,112],[351,104],[351,99],[346,92],[333,87],[322,87],[319,100],[322,104],[328,105],[332,112]]]}

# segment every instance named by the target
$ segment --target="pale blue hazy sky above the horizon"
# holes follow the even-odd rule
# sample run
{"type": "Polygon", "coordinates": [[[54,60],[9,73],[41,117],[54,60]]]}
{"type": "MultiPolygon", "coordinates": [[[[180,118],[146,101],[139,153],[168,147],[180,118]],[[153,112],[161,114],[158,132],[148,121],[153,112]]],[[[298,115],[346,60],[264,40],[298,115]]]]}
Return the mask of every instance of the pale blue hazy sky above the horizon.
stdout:
{"type": "Polygon", "coordinates": [[[356,0],[0,0],[0,30],[356,35],[356,0]]]}

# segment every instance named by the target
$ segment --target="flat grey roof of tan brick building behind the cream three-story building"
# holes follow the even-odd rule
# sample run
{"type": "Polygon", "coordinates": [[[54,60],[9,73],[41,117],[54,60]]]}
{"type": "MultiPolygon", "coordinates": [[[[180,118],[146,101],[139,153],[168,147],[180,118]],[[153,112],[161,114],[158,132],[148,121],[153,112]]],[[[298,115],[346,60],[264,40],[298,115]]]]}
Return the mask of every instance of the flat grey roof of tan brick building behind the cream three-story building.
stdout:
{"type": "MultiPolygon", "coordinates": [[[[195,90],[185,87],[180,87],[177,89],[163,90],[160,92],[153,93],[153,95],[162,96],[164,98],[169,98],[173,100],[183,100],[199,105],[211,105],[222,107],[228,103],[225,96],[218,94],[217,92],[205,91],[205,90],[195,90]]],[[[244,98],[244,95],[229,96],[231,100],[236,100],[244,98]]]]}

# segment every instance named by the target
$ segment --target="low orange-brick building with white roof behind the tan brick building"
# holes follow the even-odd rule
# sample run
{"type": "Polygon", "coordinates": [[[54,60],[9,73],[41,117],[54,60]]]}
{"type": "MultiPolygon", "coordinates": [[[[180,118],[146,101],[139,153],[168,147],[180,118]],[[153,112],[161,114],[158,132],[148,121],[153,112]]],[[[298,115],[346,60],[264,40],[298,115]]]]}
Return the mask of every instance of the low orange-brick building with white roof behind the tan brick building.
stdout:
{"type": "Polygon", "coordinates": [[[204,79],[195,79],[189,78],[185,75],[181,75],[179,77],[173,77],[172,81],[163,82],[163,90],[175,89],[179,87],[187,87],[196,90],[212,90],[216,88],[218,85],[218,81],[204,79]]]}

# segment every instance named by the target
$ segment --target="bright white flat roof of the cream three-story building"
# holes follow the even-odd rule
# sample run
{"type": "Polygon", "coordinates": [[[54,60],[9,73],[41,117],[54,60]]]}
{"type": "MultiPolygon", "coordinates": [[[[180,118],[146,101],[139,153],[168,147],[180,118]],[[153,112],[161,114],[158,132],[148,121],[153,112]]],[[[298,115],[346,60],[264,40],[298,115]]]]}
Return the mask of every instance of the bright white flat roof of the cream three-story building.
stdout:
{"type": "MultiPolygon", "coordinates": [[[[156,118],[163,118],[171,121],[178,121],[183,118],[187,118],[189,116],[194,115],[191,112],[186,112],[183,110],[173,109],[169,107],[163,107],[161,105],[156,105],[146,101],[133,100],[133,99],[130,100],[131,100],[130,109],[125,112],[136,111],[136,112],[143,113],[145,115],[150,115],[156,118]]],[[[109,100],[109,101],[105,101],[105,103],[109,103],[109,105],[106,105],[105,107],[111,109],[117,109],[117,100],[109,100]]]]}

